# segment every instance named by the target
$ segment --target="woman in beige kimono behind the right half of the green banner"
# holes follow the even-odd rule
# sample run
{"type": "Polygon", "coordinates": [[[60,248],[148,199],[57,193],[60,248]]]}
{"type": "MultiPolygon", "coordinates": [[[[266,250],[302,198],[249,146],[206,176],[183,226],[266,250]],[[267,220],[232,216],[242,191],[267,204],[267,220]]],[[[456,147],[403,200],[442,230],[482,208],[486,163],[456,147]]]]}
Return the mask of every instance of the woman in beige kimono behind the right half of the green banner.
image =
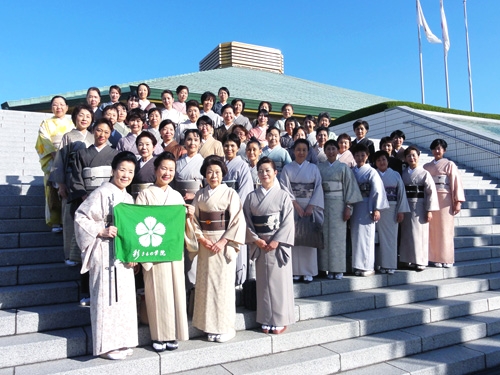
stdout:
{"type": "MultiPolygon", "coordinates": [[[[175,156],[170,152],[163,152],[155,159],[154,167],[155,184],[141,191],[135,203],[156,206],[185,205],[180,193],[169,186],[175,176],[175,156]]],[[[185,206],[188,208],[188,216],[192,217],[194,207],[185,206]]],[[[184,260],[143,263],[142,267],[153,349],[157,352],[175,350],[179,346],[177,340],[189,339],[184,260]]]]}

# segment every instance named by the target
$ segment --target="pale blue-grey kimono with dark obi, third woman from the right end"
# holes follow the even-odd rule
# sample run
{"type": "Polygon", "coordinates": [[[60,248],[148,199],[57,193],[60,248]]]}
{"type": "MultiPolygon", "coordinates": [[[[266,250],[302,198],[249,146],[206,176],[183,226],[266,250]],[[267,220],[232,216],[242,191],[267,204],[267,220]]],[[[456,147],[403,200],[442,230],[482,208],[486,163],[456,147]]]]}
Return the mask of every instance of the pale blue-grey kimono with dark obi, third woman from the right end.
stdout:
{"type": "Polygon", "coordinates": [[[385,172],[377,170],[384,184],[389,208],[380,211],[380,220],[376,223],[379,239],[375,264],[378,267],[395,270],[398,268],[398,213],[410,212],[406,199],[405,186],[398,172],[387,168],[385,172]]]}

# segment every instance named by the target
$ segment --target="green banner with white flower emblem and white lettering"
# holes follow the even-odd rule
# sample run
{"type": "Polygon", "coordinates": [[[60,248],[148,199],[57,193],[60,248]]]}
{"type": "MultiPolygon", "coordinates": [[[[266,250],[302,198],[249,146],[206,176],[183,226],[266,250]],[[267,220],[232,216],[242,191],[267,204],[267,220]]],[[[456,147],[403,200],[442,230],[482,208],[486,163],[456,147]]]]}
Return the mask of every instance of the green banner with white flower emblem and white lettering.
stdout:
{"type": "Polygon", "coordinates": [[[114,208],[116,259],[122,262],[182,260],[186,208],[120,203],[114,208]]]}

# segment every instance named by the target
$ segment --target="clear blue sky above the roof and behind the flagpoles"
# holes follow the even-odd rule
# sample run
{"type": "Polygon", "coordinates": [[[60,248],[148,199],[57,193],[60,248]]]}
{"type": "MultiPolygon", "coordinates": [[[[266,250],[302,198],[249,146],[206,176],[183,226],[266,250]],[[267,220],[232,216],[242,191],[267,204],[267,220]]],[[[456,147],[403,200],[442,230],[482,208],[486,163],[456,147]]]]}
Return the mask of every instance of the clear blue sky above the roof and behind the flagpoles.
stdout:
{"type": "MultiPolygon", "coordinates": [[[[451,107],[469,110],[463,0],[444,1],[451,107]]],[[[439,0],[421,4],[441,38],[439,0]]],[[[467,11],[475,111],[500,113],[500,1],[467,11]]],[[[229,41],[280,49],[287,75],[420,102],[415,0],[19,0],[0,21],[0,103],[196,72],[229,41]]],[[[443,47],[422,50],[426,103],[446,106],[443,47]]]]}

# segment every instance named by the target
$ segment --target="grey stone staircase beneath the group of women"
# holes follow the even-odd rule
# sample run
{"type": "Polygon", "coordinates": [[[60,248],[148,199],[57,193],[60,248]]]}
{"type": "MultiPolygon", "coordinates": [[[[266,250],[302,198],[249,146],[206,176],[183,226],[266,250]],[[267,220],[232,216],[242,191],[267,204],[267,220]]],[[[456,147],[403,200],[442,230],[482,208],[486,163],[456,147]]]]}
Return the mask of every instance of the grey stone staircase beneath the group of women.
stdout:
{"type": "Polygon", "coordinates": [[[466,374],[500,366],[499,189],[467,168],[453,268],[296,284],[297,323],[282,335],[261,333],[255,312],[238,307],[238,333],[227,343],[191,328],[190,341],[158,354],[141,325],[132,357],[94,358],[78,270],[63,264],[62,236],[44,223],[33,166],[43,116],[0,111],[2,134],[23,134],[11,142],[15,156],[4,157],[13,163],[0,169],[0,375],[466,374]]]}

